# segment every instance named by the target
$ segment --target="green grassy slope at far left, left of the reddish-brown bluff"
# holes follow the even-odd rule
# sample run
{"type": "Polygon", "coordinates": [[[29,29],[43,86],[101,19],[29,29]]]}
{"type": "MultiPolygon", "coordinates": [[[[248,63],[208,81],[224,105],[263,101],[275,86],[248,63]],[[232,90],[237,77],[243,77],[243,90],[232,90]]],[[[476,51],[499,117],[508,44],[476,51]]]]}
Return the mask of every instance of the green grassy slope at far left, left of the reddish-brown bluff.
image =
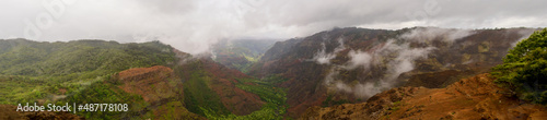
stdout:
{"type": "MultiPolygon", "coordinates": [[[[129,68],[165,65],[174,61],[171,47],[160,43],[118,44],[79,40],[36,43],[0,40],[0,104],[19,103],[131,103],[146,106],[140,96],[106,83],[129,68]],[[65,99],[62,99],[65,98],[65,99]]],[[[82,112],[86,118],[115,119],[123,112],[82,112]]],[[[136,112],[125,112],[125,116],[136,112]]]]}

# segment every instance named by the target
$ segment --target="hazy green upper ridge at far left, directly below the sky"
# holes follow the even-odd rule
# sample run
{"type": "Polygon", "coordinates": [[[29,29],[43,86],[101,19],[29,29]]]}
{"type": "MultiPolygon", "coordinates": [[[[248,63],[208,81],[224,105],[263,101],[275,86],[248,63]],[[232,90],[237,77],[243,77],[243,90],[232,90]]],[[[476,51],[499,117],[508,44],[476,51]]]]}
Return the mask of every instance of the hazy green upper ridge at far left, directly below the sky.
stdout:
{"type": "Polygon", "coordinates": [[[174,59],[172,48],[159,41],[118,44],[103,40],[0,40],[0,74],[3,75],[55,77],[77,74],[78,77],[59,79],[85,80],[129,68],[166,64],[174,59]]]}

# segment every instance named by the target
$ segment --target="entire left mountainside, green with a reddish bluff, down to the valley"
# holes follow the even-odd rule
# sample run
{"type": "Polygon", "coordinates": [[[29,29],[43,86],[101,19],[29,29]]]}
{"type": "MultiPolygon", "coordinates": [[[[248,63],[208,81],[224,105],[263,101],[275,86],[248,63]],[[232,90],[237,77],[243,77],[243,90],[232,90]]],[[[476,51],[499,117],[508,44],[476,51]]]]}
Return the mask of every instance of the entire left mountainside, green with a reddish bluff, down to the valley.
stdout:
{"type": "Polygon", "coordinates": [[[282,119],[287,112],[286,89],[159,41],[0,40],[0,105],[130,106],[75,113],[85,119],[282,119]]]}

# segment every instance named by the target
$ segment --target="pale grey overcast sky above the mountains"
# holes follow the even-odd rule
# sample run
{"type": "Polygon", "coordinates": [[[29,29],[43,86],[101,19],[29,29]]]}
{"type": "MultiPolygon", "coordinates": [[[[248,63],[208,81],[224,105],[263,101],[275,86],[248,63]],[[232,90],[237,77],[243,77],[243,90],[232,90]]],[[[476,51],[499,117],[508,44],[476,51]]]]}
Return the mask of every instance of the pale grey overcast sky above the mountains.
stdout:
{"type": "Polygon", "coordinates": [[[0,38],[158,39],[190,53],[219,39],[333,27],[546,27],[546,0],[2,0],[0,38]]]}

